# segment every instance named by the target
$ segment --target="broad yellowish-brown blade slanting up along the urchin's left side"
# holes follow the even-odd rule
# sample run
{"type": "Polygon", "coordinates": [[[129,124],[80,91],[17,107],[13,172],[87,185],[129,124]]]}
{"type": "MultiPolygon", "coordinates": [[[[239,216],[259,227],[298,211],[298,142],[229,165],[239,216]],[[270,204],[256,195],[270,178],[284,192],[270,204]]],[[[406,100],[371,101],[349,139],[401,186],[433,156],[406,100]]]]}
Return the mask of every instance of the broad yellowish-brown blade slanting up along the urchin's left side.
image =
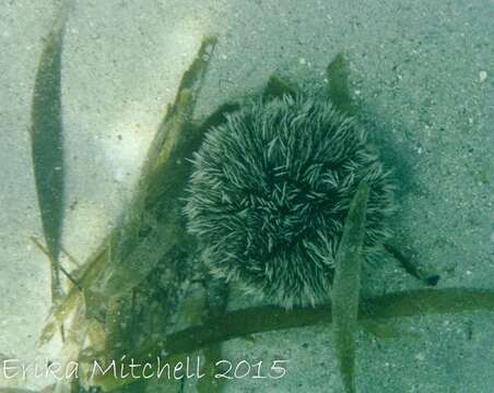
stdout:
{"type": "Polygon", "coordinates": [[[174,105],[153,141],[143,168],[139,190],[129,211],[136,217],[121,228],[115,260],[104,273],[106,285],[98,291],[120,296],[137,286],[173,246],[185,237],[181,196],[189,177],[187,157],[191,156],[197,128],[191,117],[209,64],[215,38],[202,41],[199,52],[180,82],[174,105]],[[191,146],[192,145],[192,146],[191,146]],[[153,217],[150,225],[145,217],[153,217]],[[144,218],[144,219],[142,219],[144,218]],[[136,230],[138,229],[138,230],[136,230]],[[145,233],[137,245],[126,237],[145,233]],[[130,249],[125,245],[130,245],[130,249]],[[119,247],[122,245],[124,247],[119,247]]]}

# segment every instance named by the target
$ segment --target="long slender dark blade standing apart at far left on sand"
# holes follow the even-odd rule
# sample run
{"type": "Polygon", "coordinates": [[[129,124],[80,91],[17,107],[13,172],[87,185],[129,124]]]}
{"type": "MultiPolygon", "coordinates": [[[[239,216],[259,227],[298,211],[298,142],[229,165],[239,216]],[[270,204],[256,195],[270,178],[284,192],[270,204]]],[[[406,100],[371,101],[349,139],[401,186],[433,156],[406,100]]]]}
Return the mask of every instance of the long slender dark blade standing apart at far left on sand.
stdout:
{"type": "Polygon", "coordinates": [[[31,107],[31,147],[43,231],[49,252],[51,296],[61,296],[58,258],[63,221],[63,138],[61,114],[61,53],[68,3],[45,40],[31,107]]]}

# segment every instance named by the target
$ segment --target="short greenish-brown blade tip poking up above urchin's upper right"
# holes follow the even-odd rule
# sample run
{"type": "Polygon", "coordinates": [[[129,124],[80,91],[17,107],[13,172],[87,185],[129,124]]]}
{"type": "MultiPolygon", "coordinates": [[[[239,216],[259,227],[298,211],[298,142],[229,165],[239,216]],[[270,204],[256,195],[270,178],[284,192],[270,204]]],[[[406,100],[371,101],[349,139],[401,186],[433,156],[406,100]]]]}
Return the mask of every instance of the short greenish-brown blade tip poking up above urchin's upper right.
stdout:
{"type": "Polygon", "coordinates": [[[329,98],[341,111],[352,114],[352,98],[349,86],[349,67],[343,53],[329,63],[326,75],[329,83],[329,98]]]}

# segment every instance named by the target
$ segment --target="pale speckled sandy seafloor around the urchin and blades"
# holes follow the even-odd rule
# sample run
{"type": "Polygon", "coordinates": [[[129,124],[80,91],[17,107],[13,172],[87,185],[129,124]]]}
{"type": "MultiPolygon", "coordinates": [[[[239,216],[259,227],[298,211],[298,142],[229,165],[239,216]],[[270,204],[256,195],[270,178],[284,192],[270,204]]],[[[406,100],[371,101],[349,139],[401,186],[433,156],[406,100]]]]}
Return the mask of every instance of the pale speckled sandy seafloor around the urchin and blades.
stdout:
{"type": "MultiPolygon", "coordinates": [[[[79,0],[63,51],[67,222],[63,246],[83,260],[114,223],[145,148],[203,34],[217,47],[202,117],[256,92],[278,71],[325,83],[340,51],[361,121],[395,168],[395,242],[437,271],[438,287],[494,289],[494,1],[79,0]]],[[[35,70],[57,4],[0,2],[0,355],[35,348],[48,313],[49,270],[30,151],[35,70]]],[[[367,295],[422,284],[391,259],[368,271],[367,295]]],[[[233,298],[231,308],[246,305],[233,298]]],[[[360,392],[494,391],[494,313],[397,321],[402,335],[358,336],[360,392]],[[412,334],[411,334],[412,333],[412,334]]],[[[226,392],[342,392],[327,326],[224,345],[233,359],[287,359],[280,380],[230,381],[226,392]]],[[[0,385],[40,389],[46,381],[0,385]]],[[[193,391],[193,386],[186,386],[193,391]]]]}

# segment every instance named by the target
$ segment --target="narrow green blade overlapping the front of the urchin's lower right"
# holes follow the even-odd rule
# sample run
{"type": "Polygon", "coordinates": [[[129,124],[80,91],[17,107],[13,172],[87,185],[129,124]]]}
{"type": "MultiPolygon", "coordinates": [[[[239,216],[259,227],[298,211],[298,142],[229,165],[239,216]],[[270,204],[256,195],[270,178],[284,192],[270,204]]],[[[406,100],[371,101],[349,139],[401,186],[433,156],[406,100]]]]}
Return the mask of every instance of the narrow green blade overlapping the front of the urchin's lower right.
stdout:
{"type": "Polygon", "coordinates": [[[350,204],[343,235],[338,246],[331,289],[334,350],[346,392],[355,392],[355,336],[367,200],[368,186],[361,182],[350,204]]]}

